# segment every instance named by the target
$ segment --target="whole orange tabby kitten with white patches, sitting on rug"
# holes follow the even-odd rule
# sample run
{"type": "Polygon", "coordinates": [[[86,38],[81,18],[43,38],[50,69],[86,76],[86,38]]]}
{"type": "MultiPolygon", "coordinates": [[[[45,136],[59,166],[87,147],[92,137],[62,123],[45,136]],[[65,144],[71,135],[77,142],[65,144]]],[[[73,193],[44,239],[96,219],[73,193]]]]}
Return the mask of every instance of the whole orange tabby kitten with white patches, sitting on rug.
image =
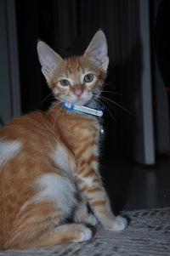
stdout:
{"type": "Polygon", "coordinates": [[[99,105],[109,64],[104,32],[81,56],[62,59],[42,41],[37,53],[55,101],[0,130],[1,249],[87,241],[98,221],[106,230],[127,226],[100,178],[99,118],[67,109],[99,105]]]}

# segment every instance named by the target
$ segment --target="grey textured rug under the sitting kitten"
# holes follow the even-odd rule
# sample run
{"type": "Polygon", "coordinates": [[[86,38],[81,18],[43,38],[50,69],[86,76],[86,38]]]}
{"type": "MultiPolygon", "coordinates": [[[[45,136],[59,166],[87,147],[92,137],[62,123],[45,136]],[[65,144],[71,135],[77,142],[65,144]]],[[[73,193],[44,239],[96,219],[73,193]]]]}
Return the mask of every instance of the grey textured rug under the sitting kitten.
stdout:
{"type": "Polygon", "coordinates": [[[0,256],[170,256],[170,208],[122,212],[127,230],[106,231],[96,226],[92,240],[23,251],[8,250],[0,256]]]}

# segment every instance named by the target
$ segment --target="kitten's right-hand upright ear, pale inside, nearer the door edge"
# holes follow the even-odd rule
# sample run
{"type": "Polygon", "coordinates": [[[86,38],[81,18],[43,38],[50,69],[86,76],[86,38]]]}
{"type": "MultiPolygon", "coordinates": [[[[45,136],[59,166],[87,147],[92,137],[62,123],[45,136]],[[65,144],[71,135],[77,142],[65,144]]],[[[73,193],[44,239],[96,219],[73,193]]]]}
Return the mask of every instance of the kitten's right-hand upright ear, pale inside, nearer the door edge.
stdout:
{"type": "Polygon", "coordinates": [[[107,70],[109,57],[107,55],[107,42],[103,31],[97,31],[86,49],[84,56],[93,60],[103,70],[107,70]]]}

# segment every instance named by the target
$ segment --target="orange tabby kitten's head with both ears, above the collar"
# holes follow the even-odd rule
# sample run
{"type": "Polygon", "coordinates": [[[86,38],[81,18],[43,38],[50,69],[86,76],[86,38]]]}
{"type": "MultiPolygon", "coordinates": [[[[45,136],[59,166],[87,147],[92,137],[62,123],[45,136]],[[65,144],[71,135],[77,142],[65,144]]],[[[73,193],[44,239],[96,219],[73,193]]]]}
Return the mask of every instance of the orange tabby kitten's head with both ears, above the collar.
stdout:
{"type": "Polygon", "coordinates": [[[88,105],[99,97],[109,64],[103,31],[96,32],[81,56],[62,59],[42,41],[37,43],[37,52],[42,73],[55,99],[88,105]]]}

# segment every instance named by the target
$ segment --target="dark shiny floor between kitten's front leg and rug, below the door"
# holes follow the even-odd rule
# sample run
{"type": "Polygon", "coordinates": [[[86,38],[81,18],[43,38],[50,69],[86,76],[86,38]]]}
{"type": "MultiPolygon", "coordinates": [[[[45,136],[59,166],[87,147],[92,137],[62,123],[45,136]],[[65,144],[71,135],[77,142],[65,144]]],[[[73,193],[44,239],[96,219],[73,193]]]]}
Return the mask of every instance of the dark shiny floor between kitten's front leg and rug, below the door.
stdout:
{"type": "Polygon", "coordinates": [[[151,167],[121,158],[107,159],[100,169],[115,213],[170,206],[169,159],[151,167]]]}

